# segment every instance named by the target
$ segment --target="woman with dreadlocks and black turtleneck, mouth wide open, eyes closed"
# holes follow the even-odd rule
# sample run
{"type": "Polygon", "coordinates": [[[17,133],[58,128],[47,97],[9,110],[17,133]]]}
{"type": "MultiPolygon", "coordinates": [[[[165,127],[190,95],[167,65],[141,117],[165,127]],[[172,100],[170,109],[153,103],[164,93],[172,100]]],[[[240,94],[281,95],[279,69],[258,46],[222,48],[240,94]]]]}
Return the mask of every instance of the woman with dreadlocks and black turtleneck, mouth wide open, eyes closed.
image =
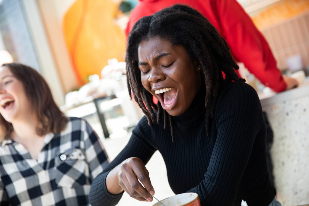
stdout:
{"type": "Polygon", "coordinates": [[[126,63],[129,93],[145,117],[92,183],[93,206],[116,205],[123,191],[152,201],[145,164],[156,150],[175,194],[195,192],[208,206],[271,204],[276,190],[258,95],[238,78],[225,40],[205,17],[175,5],[140,19],[128,37],[126,63]]]}

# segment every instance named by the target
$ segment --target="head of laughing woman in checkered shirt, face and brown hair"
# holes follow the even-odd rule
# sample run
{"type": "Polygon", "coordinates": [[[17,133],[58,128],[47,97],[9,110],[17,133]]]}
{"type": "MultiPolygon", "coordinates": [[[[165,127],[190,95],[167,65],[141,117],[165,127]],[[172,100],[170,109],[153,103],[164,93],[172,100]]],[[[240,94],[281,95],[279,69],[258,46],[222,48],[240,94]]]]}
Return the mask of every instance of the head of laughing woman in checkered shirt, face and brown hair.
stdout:
{"type": "Polygon", "coordinates": [[[0,74],[0,121],[1,125],[9,124],[2,128],[0,138],[9,136],[14,120],[37,118],[39,135],[61,131],[66,126],[66,117],[54,102],[47,83],[34,69],[4,64],[0,74]]]}

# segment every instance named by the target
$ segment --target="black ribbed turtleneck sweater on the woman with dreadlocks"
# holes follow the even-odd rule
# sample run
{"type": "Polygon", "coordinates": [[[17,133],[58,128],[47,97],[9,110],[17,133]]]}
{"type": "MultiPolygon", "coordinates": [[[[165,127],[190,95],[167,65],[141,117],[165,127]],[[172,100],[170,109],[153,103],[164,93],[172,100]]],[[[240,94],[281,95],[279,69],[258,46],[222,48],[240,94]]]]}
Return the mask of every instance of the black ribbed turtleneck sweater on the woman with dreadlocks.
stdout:
{"type": "Polygon", "coordinates": [[[249,206],[269,205],[276,190],[269,180],[266,127],[256,91],[243,82],[225,86],[218,95],[210,137],[205,132],[204,105],[201,87],[189,109],[173,117],[174,142],[169,127],[149,126],[143,117],[125,148],[93,181],[91,205],[116,205],[122,193],[108,193],[108,171],[130,157],[146,164],[156,150],[163,156],[175,194],[195,192],[202,206],[240,206],[241,200],[249,206]]]}

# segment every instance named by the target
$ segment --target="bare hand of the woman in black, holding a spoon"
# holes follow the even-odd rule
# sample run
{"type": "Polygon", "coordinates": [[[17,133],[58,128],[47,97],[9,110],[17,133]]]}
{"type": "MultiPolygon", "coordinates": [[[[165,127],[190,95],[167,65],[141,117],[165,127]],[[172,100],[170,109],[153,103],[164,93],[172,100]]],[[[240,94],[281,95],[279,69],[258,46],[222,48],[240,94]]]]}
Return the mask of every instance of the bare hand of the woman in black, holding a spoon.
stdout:
{"type": "Polygon", "coordinates": [[[116,195],[125,191],[139,201],[151,202],[153,200],[151,195],[155,194],[149,172],[139,158],[128,158],[112,169],[106,177],[106,187],[111,194],[116,195]]]}

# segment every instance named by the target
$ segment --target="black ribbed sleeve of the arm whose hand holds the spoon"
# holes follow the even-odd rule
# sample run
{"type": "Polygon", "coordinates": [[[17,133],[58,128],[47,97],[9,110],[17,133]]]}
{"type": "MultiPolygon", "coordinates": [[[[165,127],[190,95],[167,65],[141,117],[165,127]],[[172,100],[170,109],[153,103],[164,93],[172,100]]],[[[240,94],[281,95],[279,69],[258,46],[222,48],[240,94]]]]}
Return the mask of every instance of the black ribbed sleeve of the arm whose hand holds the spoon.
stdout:
{"type": "Polygon", "coordinates": [[[113,206],[119,202],[123,192],[119,195],[112,195],[107,191],[105,180],[108,172],[131,157],[140,158],[146,165],[156,151],[156,149],[149,144],[149,142],[153,141],[152,138],[153,132],[151,131],[151,127],[148,125],[146,117],[143,117],[134,128],[132,136],[125,148],[108,165],[106,170],[100,173],[92,182],[89,193],[89,202],[92,206],[113,206]]]}

